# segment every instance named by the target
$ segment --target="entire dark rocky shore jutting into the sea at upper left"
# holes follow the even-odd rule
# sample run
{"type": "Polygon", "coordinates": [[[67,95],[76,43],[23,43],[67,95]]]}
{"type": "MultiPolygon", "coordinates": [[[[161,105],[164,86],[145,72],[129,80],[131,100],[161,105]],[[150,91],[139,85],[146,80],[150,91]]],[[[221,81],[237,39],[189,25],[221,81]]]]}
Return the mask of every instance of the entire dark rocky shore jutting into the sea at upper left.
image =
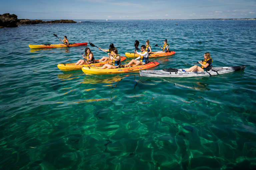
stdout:
{"type": "Polygon", "coordinates": [[[76,23],[73,20],[54,20],[54,21],[42,21],[42,20],[29,20],[29,19],[18,19],[15,14],[3,14],[0,15],[0,28],[5,27],[18,27],[19,25],[27,24],[42,24],[42,23],[76,23]]]}

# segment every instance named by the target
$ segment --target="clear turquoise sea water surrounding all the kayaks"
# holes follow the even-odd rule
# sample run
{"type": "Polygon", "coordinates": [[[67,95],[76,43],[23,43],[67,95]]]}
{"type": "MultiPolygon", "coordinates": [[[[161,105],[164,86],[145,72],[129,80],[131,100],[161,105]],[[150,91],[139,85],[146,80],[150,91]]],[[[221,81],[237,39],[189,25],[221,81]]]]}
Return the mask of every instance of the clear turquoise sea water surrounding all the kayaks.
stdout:
{"type": "MultiPolygon", "coordinates": [[[[79,20],[0,29],[0,169],[255,169],[256,22],[79,20]],[[85,75],[58,63],[92,42],[120,55],[134,42],[176,54],[151,69],[188,68],[210,52],[214,66],[246,65],[212,77],[85,75]]],[[[96,59],[105,53],[88,45],[96,59]]],[[[128,63],[126,59],[123,63],[128,63]]]]}

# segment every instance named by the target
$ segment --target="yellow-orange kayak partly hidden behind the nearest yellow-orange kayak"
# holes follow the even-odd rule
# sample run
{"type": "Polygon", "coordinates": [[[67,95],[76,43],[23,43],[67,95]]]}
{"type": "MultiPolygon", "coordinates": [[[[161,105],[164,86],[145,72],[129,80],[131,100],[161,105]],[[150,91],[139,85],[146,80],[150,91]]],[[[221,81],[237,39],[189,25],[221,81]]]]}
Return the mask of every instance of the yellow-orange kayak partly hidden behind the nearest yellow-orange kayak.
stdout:
{"type": "MultiPolygon", "coordinates": [[[[125,59],[126,59],[126,57],[121,56],[121,61],[123,61],[125,59]]],[[[99,61],[99,59],[96,61],[99,61]]],[[[81,70],[82,67],[86,67],[86,66],[100,67],[107,63],[108,63],[108,61],[98,62],[98,63],[93,63],[93,64],[83,64],[83,65],[74,65],[75,63],[67,63],[67,64],[58,64],[57,67],[62,71],[72,71],[72,70],[81,70]]]]}

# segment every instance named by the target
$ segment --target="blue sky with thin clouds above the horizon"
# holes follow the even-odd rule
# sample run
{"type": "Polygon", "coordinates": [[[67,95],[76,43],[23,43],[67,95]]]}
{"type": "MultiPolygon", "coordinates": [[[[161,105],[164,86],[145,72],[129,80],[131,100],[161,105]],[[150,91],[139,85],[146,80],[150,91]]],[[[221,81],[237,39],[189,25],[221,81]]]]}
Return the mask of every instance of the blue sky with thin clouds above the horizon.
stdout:
{"type": "Polygon", "coordinates": [[[18,19],[256,18],[256,0],[0,0],[18,19]]]}

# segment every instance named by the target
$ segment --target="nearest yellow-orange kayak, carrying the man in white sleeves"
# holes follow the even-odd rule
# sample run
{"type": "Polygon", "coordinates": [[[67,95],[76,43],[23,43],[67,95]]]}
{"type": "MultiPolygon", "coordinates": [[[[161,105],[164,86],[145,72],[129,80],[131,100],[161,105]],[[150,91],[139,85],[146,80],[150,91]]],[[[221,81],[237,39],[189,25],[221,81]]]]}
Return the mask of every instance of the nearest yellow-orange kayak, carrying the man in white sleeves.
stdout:
{"type": "Polygon", "coordinates": [[[102,74],[118,74],[118,73],[127,73],[127,72],[132,72],[132,71],[139,71],[139,70],[144,70],[147,68],[151,68],[154,66],[157,66],[159,62],[149,62],[144,65],[138,65],[138,66],[132,66],[135,64],[132,64],[131,67],[121,67],[121,68],[111,68],[111,69],[102,69],[102,68],[95,68],[95,67],[83,67],[82,71],[85,74],[97,74],[97,75],[102,75],[102,74]]]}

